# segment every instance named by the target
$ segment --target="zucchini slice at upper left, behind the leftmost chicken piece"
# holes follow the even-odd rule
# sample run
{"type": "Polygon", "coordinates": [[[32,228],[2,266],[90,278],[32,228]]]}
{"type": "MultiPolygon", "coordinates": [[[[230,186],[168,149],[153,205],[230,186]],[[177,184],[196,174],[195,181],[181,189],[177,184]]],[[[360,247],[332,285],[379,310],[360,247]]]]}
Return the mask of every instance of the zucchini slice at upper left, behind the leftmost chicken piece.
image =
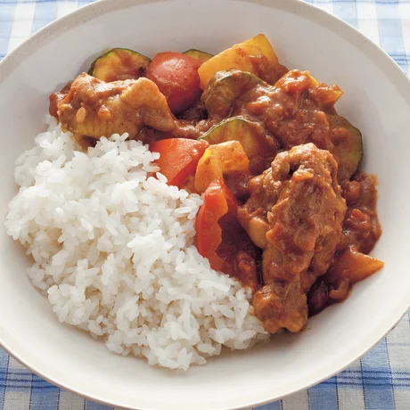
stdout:
{"type": "Polygon", "coordinates": [[[88,74],[106,82],[137,79],[145,77],[150,62],[148,57],[133,50],[113,48],[94,60],[88,74]]]}

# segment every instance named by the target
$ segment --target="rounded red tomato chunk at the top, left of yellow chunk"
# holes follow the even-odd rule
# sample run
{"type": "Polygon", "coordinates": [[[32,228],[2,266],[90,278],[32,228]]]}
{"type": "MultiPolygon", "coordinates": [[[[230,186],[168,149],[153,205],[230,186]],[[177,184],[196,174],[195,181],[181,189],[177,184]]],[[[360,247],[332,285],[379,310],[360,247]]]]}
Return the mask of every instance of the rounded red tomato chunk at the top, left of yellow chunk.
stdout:
{"type": "Polygon", "coordinates": [[[169,109],[178,114],[201,97],[200,66],[201,61],[183,53],[158,53],[148,66],[146,77],[166,96],[169,109]]]}

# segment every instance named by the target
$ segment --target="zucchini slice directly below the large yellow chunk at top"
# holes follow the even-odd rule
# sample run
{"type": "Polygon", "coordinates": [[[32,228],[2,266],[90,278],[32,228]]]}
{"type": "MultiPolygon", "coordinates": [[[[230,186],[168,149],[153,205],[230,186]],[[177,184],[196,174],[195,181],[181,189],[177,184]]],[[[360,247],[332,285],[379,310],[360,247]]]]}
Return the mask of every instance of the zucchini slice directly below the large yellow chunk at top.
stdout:
{"type": "Polygon", "coordinates": [[[203,92],[201,101],[209,118],[223,119],[229,117],[236,100],[258,85],[268,86],[265,81],[248,71],[217,71],[203,92]]]}

